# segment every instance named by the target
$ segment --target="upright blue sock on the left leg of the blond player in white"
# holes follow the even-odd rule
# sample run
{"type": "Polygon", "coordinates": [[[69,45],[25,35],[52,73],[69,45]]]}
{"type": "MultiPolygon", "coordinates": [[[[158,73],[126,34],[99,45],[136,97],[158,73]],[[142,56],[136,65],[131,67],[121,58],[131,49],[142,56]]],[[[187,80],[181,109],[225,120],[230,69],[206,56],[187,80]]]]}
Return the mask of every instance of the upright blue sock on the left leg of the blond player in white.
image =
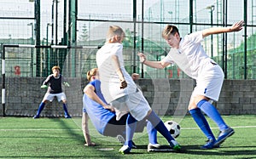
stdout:
{"type": "Polygon", "coordinates": [[[137,120],[131,116],[131,114],[128,114],[126,119],[126,137],[125,137],[125,145],[128,145],[129,147],[132,147],[132,138],[133,134],[137,127],[137,120]]]}

